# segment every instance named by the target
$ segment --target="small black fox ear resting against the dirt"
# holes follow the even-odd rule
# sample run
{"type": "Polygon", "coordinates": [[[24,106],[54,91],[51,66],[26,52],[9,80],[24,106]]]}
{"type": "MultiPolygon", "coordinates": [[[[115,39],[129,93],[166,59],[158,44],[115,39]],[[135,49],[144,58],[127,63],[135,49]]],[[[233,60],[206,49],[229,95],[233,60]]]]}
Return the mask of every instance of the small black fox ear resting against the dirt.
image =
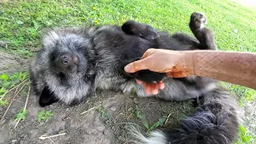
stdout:
{"type": "Polygon", "coordinates": [[[49,106],[54,102],[58,102],[58,98],[54,95],[54,92],[50,91],[48,86],[45,86],[40,94],[39,105],[49,106]]]}

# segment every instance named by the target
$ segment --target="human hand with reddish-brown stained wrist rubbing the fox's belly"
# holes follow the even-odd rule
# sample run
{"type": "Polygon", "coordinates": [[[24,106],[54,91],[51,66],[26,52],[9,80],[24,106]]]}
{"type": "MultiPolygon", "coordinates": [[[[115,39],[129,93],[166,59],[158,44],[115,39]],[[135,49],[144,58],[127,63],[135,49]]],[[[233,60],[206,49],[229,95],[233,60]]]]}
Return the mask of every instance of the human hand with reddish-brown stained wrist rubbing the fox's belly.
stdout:
{"type": "MultiPolygon", "coordinates": [[[[125,67],[127,73],[138,70],[151,70],[158,73],[166,73],[169,77],[182,78],[190,75],[186,60],[192,60],[186,56],[185,51],[149,49],[142,55],[141,60],[131,62],[125,67]]],[[[192,62],[192,61],[190,61],[192,62]]],[[[158,90],[164,89],[164,83],[144,83],[136,80],[144,86],[146,94],[158,94],[158,90]]]]}

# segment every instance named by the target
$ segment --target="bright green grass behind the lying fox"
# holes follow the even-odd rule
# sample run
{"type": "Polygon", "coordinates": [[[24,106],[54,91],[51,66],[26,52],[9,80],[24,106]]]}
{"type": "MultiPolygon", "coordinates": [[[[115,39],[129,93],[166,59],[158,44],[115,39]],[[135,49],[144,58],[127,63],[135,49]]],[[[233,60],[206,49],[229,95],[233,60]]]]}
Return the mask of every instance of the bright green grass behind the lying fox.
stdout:
{"type": "MultiPolygon", "coordinates": [[[[30,58],[40,47],[40,36],[47,29],[55,26],[121,25],[128,19],[146,22],[170,33],[191,34],[188,22],[194,11],[206,14],[207,26],[214,31],[219,50],[256,52],[256,8],[249,9],[227,0],[2,2],[0,41],[9,43],[0,50],[30,58]]],[[[224,85],[238,94],[241,106],[256,99],[255,90],[224,85]]]]}

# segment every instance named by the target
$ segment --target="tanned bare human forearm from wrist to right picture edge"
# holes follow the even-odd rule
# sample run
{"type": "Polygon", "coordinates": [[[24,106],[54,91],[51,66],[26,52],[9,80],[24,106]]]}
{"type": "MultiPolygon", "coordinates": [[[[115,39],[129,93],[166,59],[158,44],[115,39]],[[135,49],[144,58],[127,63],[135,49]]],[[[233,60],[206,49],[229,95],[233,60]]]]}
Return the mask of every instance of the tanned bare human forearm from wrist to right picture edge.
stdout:
{"type": "Polygon", "coordinates": [[[190,74],[256,90],[256,54],[218,50],[194,50],[186,53],[186,69],[190,74]]]}

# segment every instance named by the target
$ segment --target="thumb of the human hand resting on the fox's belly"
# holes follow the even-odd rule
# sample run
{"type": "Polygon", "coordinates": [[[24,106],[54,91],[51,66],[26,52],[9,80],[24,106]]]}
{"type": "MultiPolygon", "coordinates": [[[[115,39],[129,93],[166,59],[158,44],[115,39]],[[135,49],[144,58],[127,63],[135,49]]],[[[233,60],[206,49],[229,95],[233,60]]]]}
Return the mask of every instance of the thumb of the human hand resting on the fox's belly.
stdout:
{"type": "Polygon", "coordinates": [[[149,63],[146,62],[146,58],[131,62],[130,64],[125,66],[125,71],[127,73],[135,73],[138,70],[147,70],[149,69],[149,63]]]}

